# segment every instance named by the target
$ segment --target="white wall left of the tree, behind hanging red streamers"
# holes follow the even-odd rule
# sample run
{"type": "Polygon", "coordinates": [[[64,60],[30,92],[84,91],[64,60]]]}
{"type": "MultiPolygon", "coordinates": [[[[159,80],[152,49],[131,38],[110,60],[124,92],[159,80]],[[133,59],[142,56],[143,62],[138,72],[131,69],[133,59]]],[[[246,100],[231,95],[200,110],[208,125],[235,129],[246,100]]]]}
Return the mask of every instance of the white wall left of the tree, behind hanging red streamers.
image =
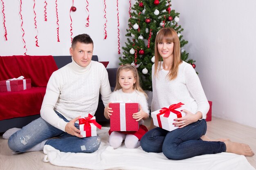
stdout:
{"type": "MultiPolygon", "coordinates": [[[[0,2],[0,55],[24,55],[25,49],[22,42],[21,20],[19,16],[20,0],[3,0],[4,13],[7,28],[7,41],[4,39],[2,3],[0,2]]],[[[38,45],[36,47],[34,26],[33,0],[22,0],[24,40],[27,47],[27,55],[69,55],[71,46],[70,33],[70,7],[72,0],[58,0],[59,38],[57,42],[56,4],[55,0],[47,1],[47,22],[44,20],[44,1],[36,0],[36,22],[38,28],[38,45]]],[[[90,26],[85,27],[88,13],[86,11],[86,0],[74,0],[76,12],[71,13],[73,36],[88,33],[94,41],[94,55],[99,56],[100,61],[110,61],[108,68],[117,67],[118,38],[117,38],[117,1],[106,0],[107,39],[104,40],[104,6],[103,0],[88,0],[90,26]]],[[[119,29],[120,46],[126,41],[126,28],[129,19],[129,1],[119,0],[119,29]]],[[[134,4],[135,1],[132,1],[134,4]]],[[[121,47],[120,47],[121,49],[121,47]]]]}

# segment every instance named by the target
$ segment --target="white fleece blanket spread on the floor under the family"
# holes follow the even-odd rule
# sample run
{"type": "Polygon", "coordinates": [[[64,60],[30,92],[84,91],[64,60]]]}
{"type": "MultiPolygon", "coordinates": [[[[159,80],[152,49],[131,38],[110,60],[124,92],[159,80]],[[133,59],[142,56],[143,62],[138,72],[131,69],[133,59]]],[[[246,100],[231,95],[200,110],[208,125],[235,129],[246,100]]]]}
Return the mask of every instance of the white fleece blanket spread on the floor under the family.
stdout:
{"type": "Polygon", "coordinates": [[[98,131],[101,146],[94,153],[65,153],[45,145],[44,161],[90,170],[255,170],[245,156],[226,152],[175,161],[162,153],[144,152],[141,147],[128,149],[122,145],[113,149],[108,143],[108,130],[103,127],[98,131]]]}

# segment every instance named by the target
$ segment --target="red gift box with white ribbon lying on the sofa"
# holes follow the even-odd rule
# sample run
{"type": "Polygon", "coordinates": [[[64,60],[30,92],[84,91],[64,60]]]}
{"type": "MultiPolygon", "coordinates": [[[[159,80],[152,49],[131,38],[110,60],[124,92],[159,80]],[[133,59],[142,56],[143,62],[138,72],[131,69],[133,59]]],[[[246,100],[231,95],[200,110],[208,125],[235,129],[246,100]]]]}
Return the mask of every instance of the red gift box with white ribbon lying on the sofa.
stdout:
{"type": "Polygon", "coordinates": [[[23,76],[0,81],[0,91],[23,91],[31,88],[31,79],[24,79],[23,76]]]}

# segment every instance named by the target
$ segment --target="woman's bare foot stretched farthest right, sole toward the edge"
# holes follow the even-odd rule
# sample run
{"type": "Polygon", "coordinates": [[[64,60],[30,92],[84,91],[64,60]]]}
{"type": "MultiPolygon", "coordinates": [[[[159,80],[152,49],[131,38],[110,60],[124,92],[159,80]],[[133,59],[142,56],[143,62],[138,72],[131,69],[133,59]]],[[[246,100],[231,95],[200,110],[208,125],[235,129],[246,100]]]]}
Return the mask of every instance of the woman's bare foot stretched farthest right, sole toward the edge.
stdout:
{"type": "Polygon", "coordinates": [[[252,157],[254,152],[247,144],[240,144],[232,141],[225,141],[226,144],[226,152],[235,153],[238,155],[244,155],[246,157],[252,157]]]}

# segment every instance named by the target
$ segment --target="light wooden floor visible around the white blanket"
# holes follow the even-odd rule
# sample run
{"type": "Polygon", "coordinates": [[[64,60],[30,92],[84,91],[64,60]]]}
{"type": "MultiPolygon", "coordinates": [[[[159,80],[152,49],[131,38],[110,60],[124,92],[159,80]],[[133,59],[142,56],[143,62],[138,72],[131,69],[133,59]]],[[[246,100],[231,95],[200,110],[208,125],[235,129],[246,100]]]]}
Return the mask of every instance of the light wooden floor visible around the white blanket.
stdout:
{"type": "MultiPolygon", "coordinates": [[[[149,122],[146,121],[146,125],[149,122]]],[[[227,137],[231,141],[249,144],[252,150],[256,152],[256,128],[216,117],[207,122],[207,127],[208,137],[227,137]]],[[[80,168],[59,167],[51,163],[44,163],[44,156],[43,151],[12,155],[7,145],[7,139],[3,139],[2,134],[0,134],[0,170],[81,170],[80,168]]],[[[256,168],[256,156],[246,158],[256,168]]]]}

